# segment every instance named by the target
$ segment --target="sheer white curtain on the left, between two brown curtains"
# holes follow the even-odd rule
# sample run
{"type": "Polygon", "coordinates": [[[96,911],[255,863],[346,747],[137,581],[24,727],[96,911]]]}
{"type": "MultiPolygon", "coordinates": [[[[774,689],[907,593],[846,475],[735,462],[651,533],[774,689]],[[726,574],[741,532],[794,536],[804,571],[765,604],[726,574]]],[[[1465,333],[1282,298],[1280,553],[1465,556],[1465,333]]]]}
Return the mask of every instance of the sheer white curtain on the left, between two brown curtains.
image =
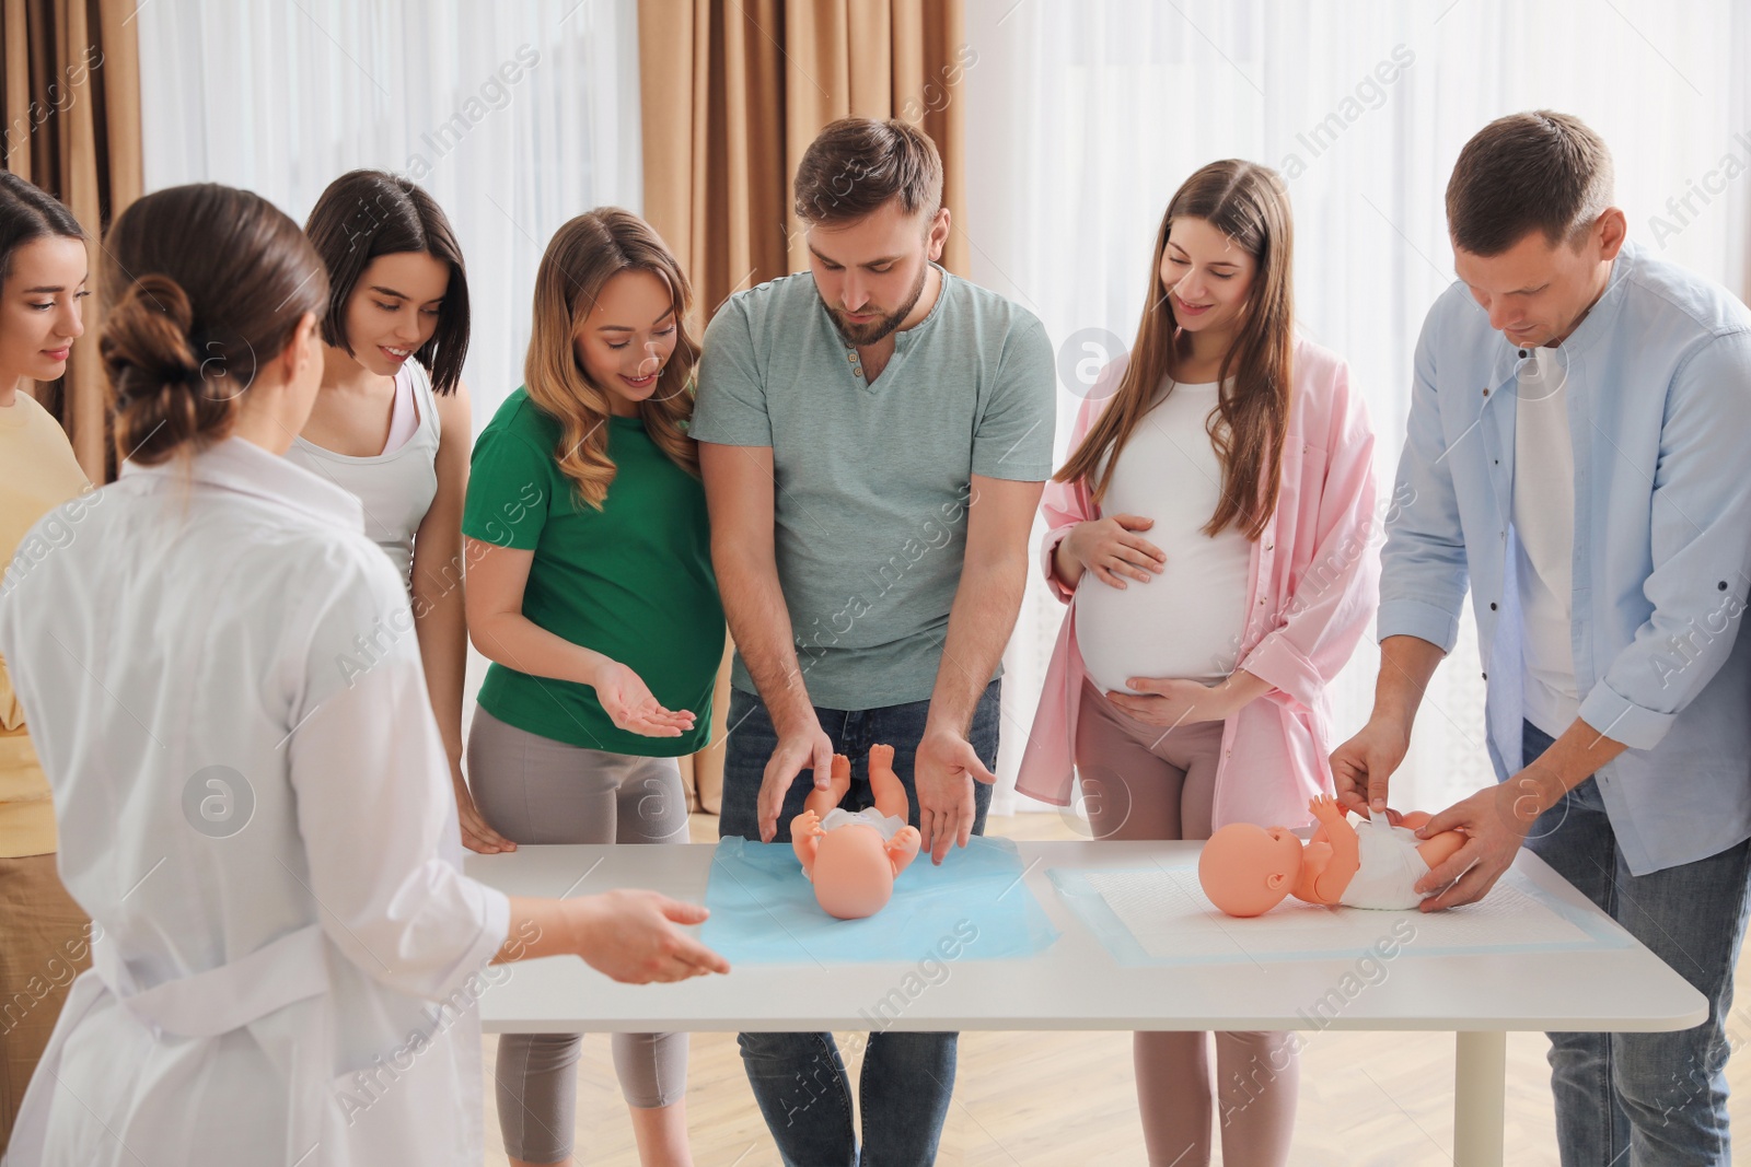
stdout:
{"type": "Polygon", "coordinates": [[[424,185],[468,261],[475,432],[522,383],[555,227],[643,201],[636,0],[151,0],[145,187],[226,182],[303,222],[355,166],[424,185]]]}

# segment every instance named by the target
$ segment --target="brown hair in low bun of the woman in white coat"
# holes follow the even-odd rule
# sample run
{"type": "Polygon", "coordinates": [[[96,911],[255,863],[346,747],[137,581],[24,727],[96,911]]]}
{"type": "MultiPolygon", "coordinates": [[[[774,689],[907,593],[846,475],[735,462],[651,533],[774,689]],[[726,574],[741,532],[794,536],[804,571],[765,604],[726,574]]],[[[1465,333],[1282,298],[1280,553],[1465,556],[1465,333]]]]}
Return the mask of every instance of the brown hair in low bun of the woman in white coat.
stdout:
{"type": "Polygon", "coordinates": [[[322,257],[298,224],[215,182],[130,203],[110,224],[102,287],[116,460],[140,465],[228,437],[259,367],[327,304],[322,257]]]}

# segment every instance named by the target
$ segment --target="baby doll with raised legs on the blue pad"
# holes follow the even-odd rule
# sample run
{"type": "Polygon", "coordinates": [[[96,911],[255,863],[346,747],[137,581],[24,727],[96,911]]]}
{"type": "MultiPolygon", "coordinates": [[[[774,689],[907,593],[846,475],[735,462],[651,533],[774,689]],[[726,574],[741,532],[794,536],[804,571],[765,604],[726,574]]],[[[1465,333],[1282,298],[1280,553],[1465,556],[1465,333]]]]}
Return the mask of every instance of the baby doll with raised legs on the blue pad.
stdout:
{"type": "Polygon", "coordinates": [[[809,791],[807,810],[790,821],[790,843],[814,899],[840,920],[876,915],[893,896],[893,880],[918,857],[918,828],[907,826],[911,801],[893,772],[893,747],[870,747],[870,793],[876,805],[840,810],[851,789],[851,759],[833,754],[832,786],[809,791]]]}

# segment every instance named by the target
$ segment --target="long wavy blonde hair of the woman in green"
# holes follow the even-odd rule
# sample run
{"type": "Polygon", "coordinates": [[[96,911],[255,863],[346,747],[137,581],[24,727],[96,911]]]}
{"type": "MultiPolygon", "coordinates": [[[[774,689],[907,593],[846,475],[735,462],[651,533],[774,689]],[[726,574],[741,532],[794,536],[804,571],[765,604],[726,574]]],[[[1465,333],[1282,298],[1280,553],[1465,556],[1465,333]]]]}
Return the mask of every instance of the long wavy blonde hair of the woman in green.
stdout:
{"type": "Polygon", "coordinates": [[[609,390],[594,385],[578,364],[576,338],[602,289],[622,271],[653,273],[674,299],[674,353],[657,378],[657,390],[639,402],[639,420],[658,450],[699,478],[699,446],[686,436],[699,360],[699,343],[686,327],[693,289],[648,222],[618,206],[599,206],[560,227],[541,257],[524,359],[529,399],[560,425],[553,458],[573,481],[578,500],[597,511],[615,481],[615,462],[608,457],[609,390]]]}

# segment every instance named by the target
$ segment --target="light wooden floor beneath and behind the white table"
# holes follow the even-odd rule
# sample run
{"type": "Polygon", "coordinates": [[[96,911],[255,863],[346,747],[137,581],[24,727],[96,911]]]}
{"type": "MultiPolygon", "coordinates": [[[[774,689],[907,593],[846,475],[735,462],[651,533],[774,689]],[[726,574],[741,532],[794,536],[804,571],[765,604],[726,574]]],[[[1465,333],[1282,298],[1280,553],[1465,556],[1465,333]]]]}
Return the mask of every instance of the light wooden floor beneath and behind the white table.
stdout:
{"type": "MultiPolygon", "coordinates": [[[[716,840],[716,819],[695,815],[695,842],[716,840]]],[[[989,835],[1079,838],[1051,814],[993,817],[989,835]]],[[[1751,1003],[1740,966],[1737,997],[1751,1003]]],[[[1751,1015],[1747,1015],[1751,1025],[1751,1015]]],[[[1746,1025],[1730,1027],[1733,1129],[1751,1141],[1751,1055],[1746,1025]]],[[[1303,1034],[1296,1167],[1420,1167],[1452,1164],[1453,1034],[1303,1034]]],[[[847,1034],[840,1034],[846,1046],[847,1034]]],[[[487,1038],[487,1067],[497,1045],[487,1038]]],[[[1543,1034],[1508,1036],[1508,1164],[1555,1167],[1557,1150],[1543,1034]]],[[[853,1080],[858,1060],[853,1059],[853,1080]]],[[[490,1081],[490,1078],[489,1078],[490,1081]]],[[[693,1034],[688,1125],[699,1167],[777,1167],[734,1034],[693,1034]]],[[[504,1167],[492,1092],[487,1164],[504,1167]]],[[[1145,1167],[1131,1080],[1131,1036],[1108,1032],[968,1032],[960,1043],[954,1106],[937,1158],[944,1167],[1145,1167]]],[[[1220,1164],[1220,1153],[1215,1157],[1220,1164]]],[[[578,1073],[578,1164],[636,1167],[632,1129],[608,1057],[608,1038],[585,1038],[578,1073]]]]}

